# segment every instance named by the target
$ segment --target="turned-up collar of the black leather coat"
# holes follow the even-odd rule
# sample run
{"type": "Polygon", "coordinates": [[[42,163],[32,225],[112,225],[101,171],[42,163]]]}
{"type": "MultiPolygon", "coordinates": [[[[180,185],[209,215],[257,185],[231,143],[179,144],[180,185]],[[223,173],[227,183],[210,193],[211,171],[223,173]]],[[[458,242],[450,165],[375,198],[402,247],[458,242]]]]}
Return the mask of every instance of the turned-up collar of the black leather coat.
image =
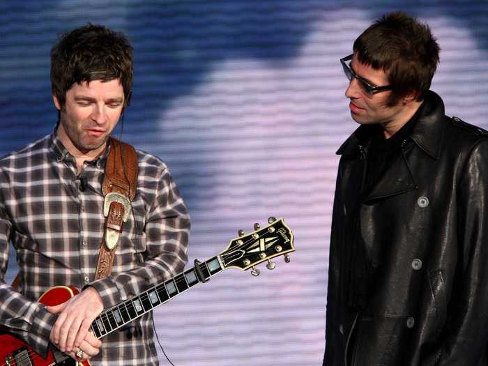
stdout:
{"type": "MultiPolygon", "coordinates": [[[[367,136],[370,135],[372,127],[360,125],[337,150],[337,155],[357,154],[358,146],[367,144],[367,136]]],[[[444,103],[436,93],[427,91],[422,113],[415,123],[410,139],[432,158],[439,159],[444,129],[444,103]]]]}

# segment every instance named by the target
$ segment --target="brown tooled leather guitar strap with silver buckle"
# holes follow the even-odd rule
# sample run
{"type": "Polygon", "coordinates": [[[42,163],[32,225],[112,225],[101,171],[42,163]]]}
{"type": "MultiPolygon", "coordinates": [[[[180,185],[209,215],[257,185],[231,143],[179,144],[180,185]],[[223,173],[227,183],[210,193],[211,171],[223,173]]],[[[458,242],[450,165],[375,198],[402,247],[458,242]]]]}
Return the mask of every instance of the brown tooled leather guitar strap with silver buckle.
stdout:
{"type": "Polygon", "coordinates": [[[112,272],[115,249],[122,233],[123,222],[130,214],[130,201],[137,190],[137,153],[129,144],[110,137],[110,152],[105,165],[102,192],[105,196],[104,215],[107,217],[95,279],[112,272]]]}

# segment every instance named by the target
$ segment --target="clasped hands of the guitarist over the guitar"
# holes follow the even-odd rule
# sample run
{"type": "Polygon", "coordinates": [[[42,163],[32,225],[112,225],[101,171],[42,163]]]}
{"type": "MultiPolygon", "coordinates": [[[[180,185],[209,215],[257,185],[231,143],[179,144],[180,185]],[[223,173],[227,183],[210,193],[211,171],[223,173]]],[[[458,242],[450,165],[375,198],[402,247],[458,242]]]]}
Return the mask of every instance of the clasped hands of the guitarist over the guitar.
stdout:
{"type": "Polygon", "coordinates": [[[90,355],[93,350],[89,347],[100,348],[102,342],[89,332],[91,323],[103,310],[102,298],[96,289],[87,287],[65,303],[47,306],[46,310],[52,314],[59,313],[49,340],[60,351],[70,353],[73,349],[81,349],[90,355]]]}

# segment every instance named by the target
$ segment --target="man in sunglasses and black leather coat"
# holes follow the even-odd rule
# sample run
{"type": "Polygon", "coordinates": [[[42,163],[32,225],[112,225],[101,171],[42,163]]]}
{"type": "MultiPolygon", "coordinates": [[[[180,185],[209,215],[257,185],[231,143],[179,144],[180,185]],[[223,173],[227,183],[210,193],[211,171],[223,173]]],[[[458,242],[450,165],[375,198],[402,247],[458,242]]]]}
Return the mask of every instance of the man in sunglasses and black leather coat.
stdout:
{"type": "Polygon", "coordinates": [[[487,365],[488,134],[429,91],[439,45],[404,13],[341,60],[324,366],[487,365]]]}

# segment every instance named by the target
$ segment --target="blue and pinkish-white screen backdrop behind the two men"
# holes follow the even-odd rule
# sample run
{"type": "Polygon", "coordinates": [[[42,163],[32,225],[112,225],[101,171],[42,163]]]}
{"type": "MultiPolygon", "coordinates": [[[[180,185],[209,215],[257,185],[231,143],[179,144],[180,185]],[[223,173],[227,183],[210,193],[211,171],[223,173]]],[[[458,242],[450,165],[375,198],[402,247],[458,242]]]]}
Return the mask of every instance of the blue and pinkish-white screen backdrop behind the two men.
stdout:
{"type": "Polygon", "coordinates": [[[447,114],[487,128],[486,0],[2,0],[0,155],[54,128],[58,35],[123,31],[135,48],[123,139],[169,165],[192,215],[191,263],[269,215],[295,234],[290,264],[228,270],[159,307],[165,351],[177,366],[321,365],[335,151],[356,128],[339,59],[391,10],[438,38],[432,89],[447,114]]]}

